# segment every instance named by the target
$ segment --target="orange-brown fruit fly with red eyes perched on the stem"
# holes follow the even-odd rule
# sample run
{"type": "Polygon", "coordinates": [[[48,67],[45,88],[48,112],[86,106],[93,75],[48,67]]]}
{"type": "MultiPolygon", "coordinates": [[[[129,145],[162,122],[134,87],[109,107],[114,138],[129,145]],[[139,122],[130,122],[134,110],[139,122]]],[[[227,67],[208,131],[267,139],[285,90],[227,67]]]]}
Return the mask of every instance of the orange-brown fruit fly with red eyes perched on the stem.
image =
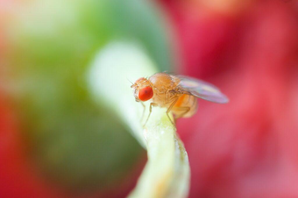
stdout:
{"type": "MultiPolygon", "coordinates": [[[[147,123],[152,106],[167,108],[174,114],[174,122],[180,117],[191,117],[198,108],[197,98],[202,98],[215,103],[227,103],[229,99],[214,85],[202,80],[181,75],[156,73],[149,78],[139,78],[133,85],[134,97],[137,102],[152,99],[150,112],[145,122],[147,123]]],[[[145,108],[145,105],[142,103],[145,108]]],[[[144,126],[145,126],[144,124],[144,126]]]]}

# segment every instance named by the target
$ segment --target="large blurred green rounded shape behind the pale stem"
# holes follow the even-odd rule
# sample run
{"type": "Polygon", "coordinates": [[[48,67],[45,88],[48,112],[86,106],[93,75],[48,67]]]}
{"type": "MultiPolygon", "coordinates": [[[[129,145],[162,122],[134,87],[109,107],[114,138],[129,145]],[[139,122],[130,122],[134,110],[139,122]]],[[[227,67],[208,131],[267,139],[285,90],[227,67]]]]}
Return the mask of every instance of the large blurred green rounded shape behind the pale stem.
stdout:
{"type": "Polygon", "coordinates": [[[113,40],[140,43],[161,71],[168,70],[169,40],[158,9],[143,0],[5,5],[1,87],[38,169],[73,192],[125,177],[145,152],[116,114],[91,98],[86,73],[95,52],[113,40]]]}

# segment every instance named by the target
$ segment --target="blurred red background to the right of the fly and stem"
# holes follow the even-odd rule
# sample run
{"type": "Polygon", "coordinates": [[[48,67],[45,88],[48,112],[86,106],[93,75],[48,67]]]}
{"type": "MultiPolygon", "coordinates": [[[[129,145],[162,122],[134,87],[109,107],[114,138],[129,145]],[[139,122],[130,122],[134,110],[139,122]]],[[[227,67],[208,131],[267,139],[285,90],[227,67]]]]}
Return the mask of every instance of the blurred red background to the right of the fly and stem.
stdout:
{"type": "Polygon", "coordinates": [[[297,1],[211,2],[162,1],[176,27],[179,71],[230,98],[200,100],[194,117],[178,121],[190,197],[298,197],[297,1]]]}

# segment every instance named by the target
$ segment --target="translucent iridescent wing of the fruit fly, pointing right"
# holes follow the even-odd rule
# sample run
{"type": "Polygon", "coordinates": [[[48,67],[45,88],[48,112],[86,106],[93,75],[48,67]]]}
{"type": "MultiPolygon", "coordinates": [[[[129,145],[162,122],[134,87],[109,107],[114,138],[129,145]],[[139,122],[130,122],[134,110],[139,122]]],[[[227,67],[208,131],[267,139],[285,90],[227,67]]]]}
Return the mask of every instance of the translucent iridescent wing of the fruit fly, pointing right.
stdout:
{"type": "Polygon", "coordinates": [[[179,82],[179,91],[185,94],[191,94],[198,98],[208,100],[215,103],[227,103],[229,99],[221,93],[221,91],[214,85],[204,82],[202,80],[191,78],[187,76],[177,75],[179,82]]]}

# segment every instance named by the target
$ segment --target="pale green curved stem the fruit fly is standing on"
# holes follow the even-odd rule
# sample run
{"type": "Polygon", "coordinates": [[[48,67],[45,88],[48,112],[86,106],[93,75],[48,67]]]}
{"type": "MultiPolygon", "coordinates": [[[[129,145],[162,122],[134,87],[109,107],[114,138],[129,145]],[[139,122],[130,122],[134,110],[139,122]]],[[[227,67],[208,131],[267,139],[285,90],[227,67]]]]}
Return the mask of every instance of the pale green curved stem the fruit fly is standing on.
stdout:
{"type": "Polygon", "coordinates": [[[190,168],[183,143],[166,115],[166,109],[149,102],[141,119],[143,107],[136,102],[130,81],[156,73],[157,69],[142,48],[132,43],[110,43],[99,51],[88,74],[91,91],[105,101],[112,111],[131,128],[132,135],[147,149],[148,162],[129,197],[186,197],[190,168]]]}

